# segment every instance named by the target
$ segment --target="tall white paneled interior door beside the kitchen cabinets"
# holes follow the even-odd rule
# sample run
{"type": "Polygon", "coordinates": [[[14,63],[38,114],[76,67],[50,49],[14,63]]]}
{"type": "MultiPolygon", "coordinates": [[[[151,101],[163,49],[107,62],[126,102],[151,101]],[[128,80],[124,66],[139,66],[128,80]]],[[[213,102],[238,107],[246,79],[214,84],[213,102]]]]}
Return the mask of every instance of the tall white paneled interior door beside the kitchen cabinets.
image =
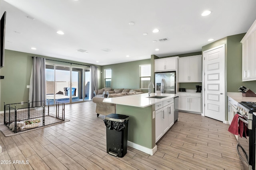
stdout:
{"type": "Polygon", "coordinates": [[[225,45],[203,52],[204,115],[225,121],[225,45]]]}

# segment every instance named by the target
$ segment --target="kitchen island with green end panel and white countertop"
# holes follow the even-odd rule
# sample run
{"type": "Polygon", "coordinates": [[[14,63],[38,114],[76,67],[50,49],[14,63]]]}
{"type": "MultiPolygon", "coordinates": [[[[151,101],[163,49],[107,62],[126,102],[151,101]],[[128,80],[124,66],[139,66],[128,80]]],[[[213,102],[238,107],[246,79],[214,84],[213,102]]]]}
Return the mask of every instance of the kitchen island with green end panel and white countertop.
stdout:
{"type": "MultiPolygon", "coordinates": [[[[116,104],[117,114],[129,116],[127,145],[134,149],[153,155],[156,152],[156,133],[158,134],[158,129],[162,130],[163,124],[166,124],[163,121],[163,123],[159,122],[159,119],[162,119],[164,108],[167,108],[169,111],[168,113],[171,112],[171,107],[169,109],[168,106],[171,104],[173,106],[173,98],[176,96],[178,95],[151,93],[149,98],[148,93],[143,93],[115,98],[106,98],[103,100],[103,102],[116,104]],[[154,96],[157,96],[157,98],[154,98],[154,96]],[[162,111],[160,114],[157,114],[159,111],[156,110],[160,109],[162,109],[162,111]]],[[[167,125],[169,125],[168,114],[166,114],[165,120],[167,120],[167,125]]],[[[172,124],[165,128],[165,131],[163,132],[165,133],[171,125],[173,125],[173,118],[172,124]]],[[[164,133],[160,135],[162,136],[164,133]]]]}

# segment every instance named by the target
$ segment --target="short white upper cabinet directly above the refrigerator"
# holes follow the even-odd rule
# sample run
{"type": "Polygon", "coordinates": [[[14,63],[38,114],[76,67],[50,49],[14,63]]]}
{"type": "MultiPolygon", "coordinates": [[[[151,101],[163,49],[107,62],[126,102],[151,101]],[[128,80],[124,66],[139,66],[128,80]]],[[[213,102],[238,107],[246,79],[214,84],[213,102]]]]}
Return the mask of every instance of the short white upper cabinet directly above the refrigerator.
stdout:
{"type": "Polygon", "coordinates": [[[177,67],[178,57],[155,59],[155,72],[176,71],[177,67]]]}

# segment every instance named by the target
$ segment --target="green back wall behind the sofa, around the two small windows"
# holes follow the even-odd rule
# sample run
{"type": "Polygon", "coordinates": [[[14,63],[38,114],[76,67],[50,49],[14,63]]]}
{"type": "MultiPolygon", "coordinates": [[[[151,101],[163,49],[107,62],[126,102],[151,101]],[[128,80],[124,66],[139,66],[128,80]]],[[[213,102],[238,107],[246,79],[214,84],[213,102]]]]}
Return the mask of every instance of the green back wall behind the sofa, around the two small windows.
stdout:
{"type": "MultiPolygon", "coordinates": [[[[150,59],[131,61],[126,63],[102,66],[101,88],[104,88],[104,69],[111,68],[111,87],[114,88],[140,88],[140,66],[150,64],[150,59]]],[[[100,88],[100,87],[99,87],[100,88]]],[[[143,90],[144,91],[144,90],[143,90]]]]}

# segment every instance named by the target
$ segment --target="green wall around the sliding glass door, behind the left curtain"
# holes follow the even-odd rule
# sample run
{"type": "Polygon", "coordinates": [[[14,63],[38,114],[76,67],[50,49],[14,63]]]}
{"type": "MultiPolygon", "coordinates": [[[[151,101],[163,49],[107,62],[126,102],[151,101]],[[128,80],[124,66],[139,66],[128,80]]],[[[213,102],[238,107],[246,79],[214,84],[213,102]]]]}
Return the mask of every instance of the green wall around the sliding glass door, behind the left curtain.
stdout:
{"type": "MultiPolygon", "coordinates": [[[[1,92],[0,92],[0,110],[4,110],[4,102],[6,104],[28,102],[29,88],[26,88],[30,83],[30,75],[32,70],[32,57],[44,57],[46,59],[56,60],[48,61],[55,64],[81,66],[92,65],[87,63],[80,63],[75,61],[68,61],[57,59],[53,57],[34,55],[30,53],[22,53],[18,51],[5,50],[4,56],[4,67],[1,68],[1,76],[5,76],[4,79],[0,81],[1,92]],[[59,62],[58,62],[59,61],[59,62]],[[62,62],[61,62],[62,61],[62,62]],[[68,63],[64,63],[68,62],[68,63]]],[[[98,85],[100,84],[100,72],[101,66],[98,66],[98,85]]]]}

